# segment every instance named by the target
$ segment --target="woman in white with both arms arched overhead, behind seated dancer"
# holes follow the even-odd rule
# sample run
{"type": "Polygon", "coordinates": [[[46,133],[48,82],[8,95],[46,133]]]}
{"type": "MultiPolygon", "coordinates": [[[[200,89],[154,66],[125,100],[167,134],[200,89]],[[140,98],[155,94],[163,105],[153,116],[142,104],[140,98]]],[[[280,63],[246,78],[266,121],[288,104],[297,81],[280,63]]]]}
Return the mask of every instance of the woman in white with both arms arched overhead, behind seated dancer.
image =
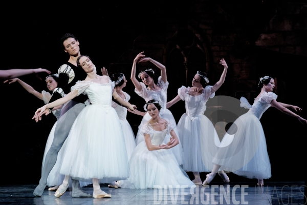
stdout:
{"type": "MultiPolygon", "coordinates": [[[[176,125],[176,121],[171,114],[169,110],[166,109],[166,103],[167,103],[167,87],[168,87],[168,81],[166,78],[166,69],[165,66],[160,64],[158,61],[153,60],[149,57],[145,57],[143,55],[144,52],[139,53],[136,58],[133,61],[132,71],[131,71],[131,80],[136,87],[135,92],[145,99],[146,102],[151,99],[158,100],[161,105],[162,109],[160,111],[160,117],[163,117],[164,119],[171,121],[172,124],[176,125]],[[142,79],[143,83],[140,83],[136,78],[136,66],[137,63],[140,62],[146,62],[150,61],[155,66],[157,66],[161,70],[161,76],[158,78],[158,84],[156,84],[153,81],[154,72],[152,69],[146,69],[139,73],[138,77],[142,79]],[[146,87],[148,86],[148,87],[146,87]]],[[[146,113],[141,121],[141,126],[144,125],[148,120],[150,119],[150,115],[146,113]]],[[[174,129],[174,132],[178,135],[177,128],[174,129]]],[[[169,141],[170,135],[165,137],[165,143],[169,141]]],[[[140,130],[137,133],[137,145],[144,140],[144,137],[141,135],[140,130]]],[[[183,150],[182,145],[179,139],[179,146],[176,146],[171,149],[171,151],[174,153],[179,165],[182,165],[183,163],[183,150]]]]}

